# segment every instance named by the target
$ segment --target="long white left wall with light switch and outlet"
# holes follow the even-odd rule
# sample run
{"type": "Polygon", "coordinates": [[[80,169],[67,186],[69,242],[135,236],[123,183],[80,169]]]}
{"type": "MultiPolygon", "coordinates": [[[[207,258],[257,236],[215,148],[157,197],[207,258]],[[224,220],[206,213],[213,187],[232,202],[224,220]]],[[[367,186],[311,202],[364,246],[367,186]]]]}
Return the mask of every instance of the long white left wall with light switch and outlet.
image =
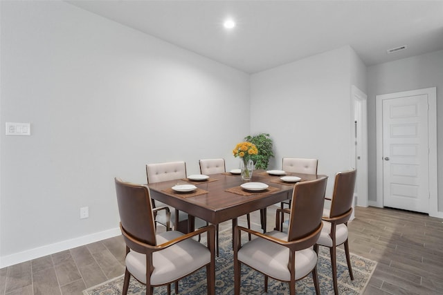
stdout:
{"type": "Polygon", "coordinates": [[[0,135],[0,267],[118,233],[114,177],[148,162],[237,166],[249,75],[62,1],[0,5],[1,126],[32,133],[0,135]]]}

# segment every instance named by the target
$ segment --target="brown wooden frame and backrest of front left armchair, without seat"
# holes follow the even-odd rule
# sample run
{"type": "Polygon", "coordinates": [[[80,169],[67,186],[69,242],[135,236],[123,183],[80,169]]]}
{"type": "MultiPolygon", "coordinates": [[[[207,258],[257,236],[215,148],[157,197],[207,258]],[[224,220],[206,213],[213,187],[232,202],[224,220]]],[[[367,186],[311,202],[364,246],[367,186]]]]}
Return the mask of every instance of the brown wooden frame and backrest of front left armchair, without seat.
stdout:
{"type": "MultiPolygon", "coordinates": [[[[207,280],[207,290],[208,294],[215,294],[215,226],[208,225],[207,227],[198,229],[197,231],[192,231],[189,234],[183,234],[163,242],[162,244],[157,244],[158,235],[156,234],[156,225],[154,221],[154,210],[152,209],[150,191],[147,186],[132,184],[129,182],[123,182],[118,178],[115,179],[117,200],[118,200],[118,211],[120,214],[120,230],[123,234],[123,239],[126,243],[126,256],[131,252],[135,251],[139,254],[145,254],[146,258],[146,294],[152,294],[154,292],[154,287],[160,285],[168,285],[168,294],[170,294],[170,283],[174,283],[175,292],[178,293],[178,281],[181,278],[189,276],[190,274],[196,272],[198,269],[206,266],[206,280],[207,280]],[[123,227],[125,225],[129,230],[123,227]],[[154,263],[152,260],[152,255],[156,251],[163,251],[169,247],[177,245],[179,242],[184,240],[192,239],[195,236],[200,236],[201,234],[207,234],[207,245],[206,248],[209,251],[210,256],[207,260],[202,260],[201,262],[206,263],[205,265],[200,265],[198,269],[190,269],[190,272],[183,272],[181,278],[174,278],[174,280],[161,283],[159,285],[151,284],[151,276],[154,272],[154,263]]],[[[158,211],[158,210],[157,210],[158,211]]],[[[161,234],[160,234],[161,235],[161,234]]],[[[194,243],[198,243],[192,240],[194,243]]],[[[188,247],[193,245],[188,245],[188,247]]],[[[203,247],[202,247],[203,248],[203,247]]],[[[193,254],[195,255],[195,254],[193,254]]],[[[198,255],[198,254],[197,254],[198,255]]],[[[207,255],[207,253],[205,254],[207,255]]],[[[195,265],[197,267],[197,265],[195,265]]],[[[125,279],[123,285],[123,294],[127,294],[129,287],[129,279],[132,274],[129,272],[128,268],[125,269],[125,279]]],[[[134,278],[136,278],[134,276],[134,278]]]]}

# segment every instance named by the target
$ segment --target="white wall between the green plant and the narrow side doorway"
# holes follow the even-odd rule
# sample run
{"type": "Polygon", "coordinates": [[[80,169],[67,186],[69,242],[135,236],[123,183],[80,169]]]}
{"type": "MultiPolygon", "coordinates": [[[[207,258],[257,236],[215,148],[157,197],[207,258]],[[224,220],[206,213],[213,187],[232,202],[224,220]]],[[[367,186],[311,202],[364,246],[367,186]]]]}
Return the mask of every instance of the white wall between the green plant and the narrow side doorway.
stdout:
{"type": "MultiPolygon", "coordinates": [[[[251,133],[271,134],[270,168],[281,169],[284,157],[318,158],[328,194],[335,173],[351,166],[353,51],[345,46],[251,76],[251,133]]],[[[364,88],[364,77],[357,80],[364,88]]]]}

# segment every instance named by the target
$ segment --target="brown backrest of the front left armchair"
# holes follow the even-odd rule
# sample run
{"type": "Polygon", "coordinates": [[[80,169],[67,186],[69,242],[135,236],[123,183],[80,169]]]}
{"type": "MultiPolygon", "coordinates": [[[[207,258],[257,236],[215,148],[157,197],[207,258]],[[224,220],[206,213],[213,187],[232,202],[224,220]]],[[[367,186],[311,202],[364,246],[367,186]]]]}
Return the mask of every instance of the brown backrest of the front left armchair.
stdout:
{"type": "Polygon", "coordinates": [[[120,225],[136,240],[156,245],[154,215],[150,191],[146,186],[123,182],[118,178],[116,193],[120,225]]]}

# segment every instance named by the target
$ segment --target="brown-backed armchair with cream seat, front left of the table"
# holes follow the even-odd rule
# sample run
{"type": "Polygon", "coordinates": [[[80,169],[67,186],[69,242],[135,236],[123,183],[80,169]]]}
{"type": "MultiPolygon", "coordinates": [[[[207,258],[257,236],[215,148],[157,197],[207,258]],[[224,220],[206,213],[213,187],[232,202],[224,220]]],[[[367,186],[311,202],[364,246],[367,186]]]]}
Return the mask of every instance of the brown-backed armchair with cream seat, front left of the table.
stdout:
{"type": "Polygon", "coordinates": [[[215,227],[182,234],[165,231],[157,234],[150,191],[147,186],[115,179],[120,229],[126,243],[126,270],[123,294],[127,294],[129,278],[134,276],[146,285],[146,294],[154,287],[175,283],[206,266],[208,294],[215,294],[215,227]],[[208,246],[192,237],[207,233],[208,246]]]}

